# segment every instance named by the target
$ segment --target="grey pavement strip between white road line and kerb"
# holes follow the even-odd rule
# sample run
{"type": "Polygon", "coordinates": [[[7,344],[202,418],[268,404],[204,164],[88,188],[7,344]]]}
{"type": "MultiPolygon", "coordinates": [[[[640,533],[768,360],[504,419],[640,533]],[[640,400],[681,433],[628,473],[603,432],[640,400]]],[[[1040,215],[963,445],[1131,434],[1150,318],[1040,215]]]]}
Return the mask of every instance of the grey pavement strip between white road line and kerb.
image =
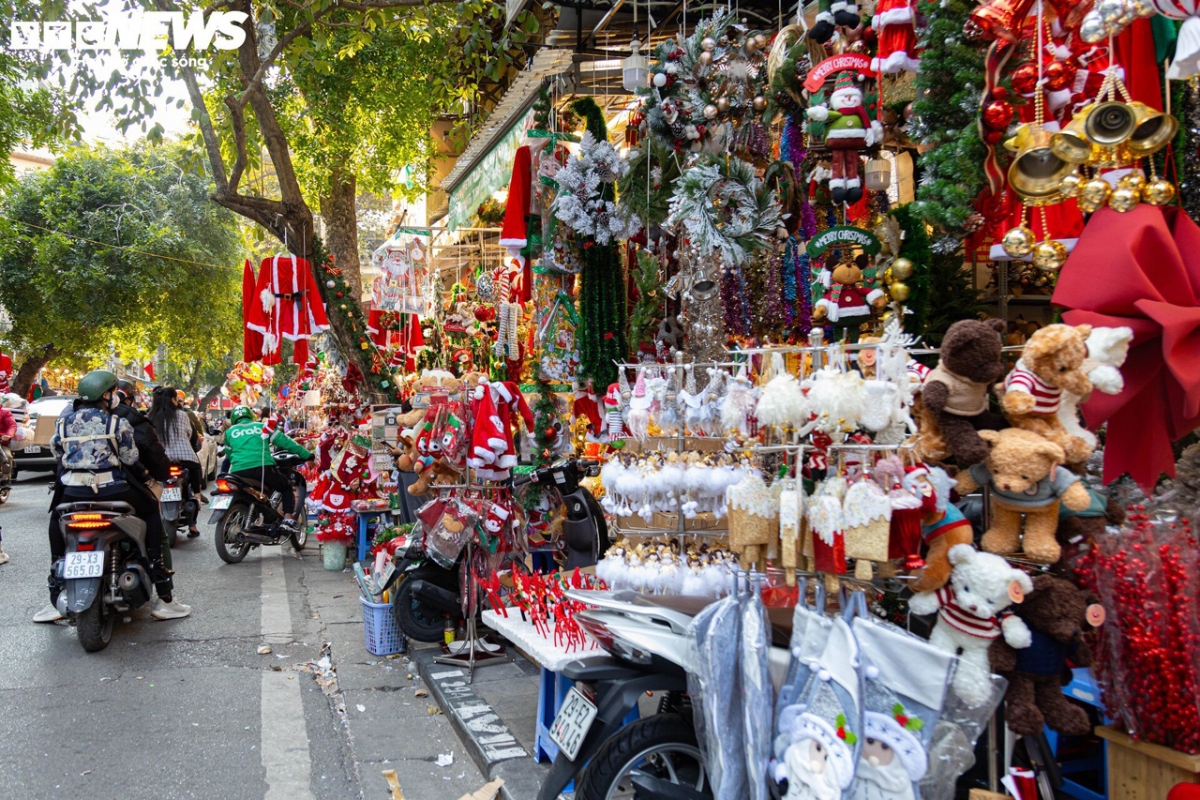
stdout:
{"type": "MultiPolygon", "coordinates": [[[[337,688],[344,698],[343,724],[365,800],[390,800],[382,775],[386,769],[396,770],[406,800],[458,800],[480,788],[486,778],[420,679],[416,664],[407,656],[367,652],[353,573],[326,571],[319,558],[305,559],[304,582],[306,613],[319,619],[330,645],[337,688]],[[438,757],[448,754],[452,763],[439,766],[438,757]]],[[[331,700],[336,703],[337,694],[331,700]]]]}

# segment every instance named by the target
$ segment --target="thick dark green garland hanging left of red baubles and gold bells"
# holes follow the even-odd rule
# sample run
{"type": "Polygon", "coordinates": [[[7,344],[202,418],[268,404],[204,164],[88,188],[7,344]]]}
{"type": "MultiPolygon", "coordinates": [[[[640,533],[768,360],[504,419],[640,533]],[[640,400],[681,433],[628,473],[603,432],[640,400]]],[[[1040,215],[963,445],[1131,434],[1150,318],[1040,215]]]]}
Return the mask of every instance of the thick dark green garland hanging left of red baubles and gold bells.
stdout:
{"type": "Polygon", "coordinates": [[[910,133],[931,145],[919,156],[917,205],[923,219],[954,239],[962,239],[974,201],[988,185],[983,164],[986,145],[977,124],[983,90],[986,43],[962,35],[976,0],[926,4],[929,23],[919,46],[920,72],[910,133]]]}

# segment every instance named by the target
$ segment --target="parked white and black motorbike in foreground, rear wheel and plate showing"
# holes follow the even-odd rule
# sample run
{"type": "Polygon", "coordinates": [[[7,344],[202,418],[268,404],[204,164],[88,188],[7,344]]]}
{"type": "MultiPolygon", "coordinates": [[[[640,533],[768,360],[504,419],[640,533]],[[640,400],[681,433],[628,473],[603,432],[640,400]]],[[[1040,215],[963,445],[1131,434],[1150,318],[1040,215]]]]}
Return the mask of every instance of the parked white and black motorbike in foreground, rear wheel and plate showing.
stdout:
{"type": "Polygon", "coordinates": [[[563,668],[575,686],[550,729],[558,757],[538,800],[554,800],[572,780],[576,800],[712,798],[684,668],[688,627],[707,601],[632,591],[568,596],[593,607],[575,619],[610,655],[563,668]],[[659,712],[624,724],[646,692],[664,692],[659,712]]]}

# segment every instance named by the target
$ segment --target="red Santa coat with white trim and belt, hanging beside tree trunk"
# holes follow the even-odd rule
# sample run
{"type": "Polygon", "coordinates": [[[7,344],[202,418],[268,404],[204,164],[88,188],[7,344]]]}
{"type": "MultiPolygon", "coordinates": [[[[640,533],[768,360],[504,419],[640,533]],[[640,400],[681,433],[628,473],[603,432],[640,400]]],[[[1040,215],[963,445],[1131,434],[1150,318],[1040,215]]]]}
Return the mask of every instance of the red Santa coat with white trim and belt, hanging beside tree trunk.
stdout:
{"type": "Polygon", "coordinates": [[[329,329],[312,265],[294,255],[263,259],[246,326],[263,335],[263,363],[280,362],[280,342],[306,339],[329,329]]]}

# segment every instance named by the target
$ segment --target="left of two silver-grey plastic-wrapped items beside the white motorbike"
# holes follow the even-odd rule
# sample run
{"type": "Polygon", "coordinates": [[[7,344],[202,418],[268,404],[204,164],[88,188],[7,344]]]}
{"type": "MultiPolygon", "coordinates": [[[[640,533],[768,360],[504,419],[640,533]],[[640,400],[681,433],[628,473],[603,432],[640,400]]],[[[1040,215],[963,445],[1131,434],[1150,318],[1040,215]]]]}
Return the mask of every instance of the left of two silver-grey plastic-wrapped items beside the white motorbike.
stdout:
{"type": "Polygon", "coordinates": [[[744,800],[746,760],[740,680],[742,608],[733,595],[716,601],[692,620],[688,670],[696,738],[713,782],[713,800],[744,800]]]}

